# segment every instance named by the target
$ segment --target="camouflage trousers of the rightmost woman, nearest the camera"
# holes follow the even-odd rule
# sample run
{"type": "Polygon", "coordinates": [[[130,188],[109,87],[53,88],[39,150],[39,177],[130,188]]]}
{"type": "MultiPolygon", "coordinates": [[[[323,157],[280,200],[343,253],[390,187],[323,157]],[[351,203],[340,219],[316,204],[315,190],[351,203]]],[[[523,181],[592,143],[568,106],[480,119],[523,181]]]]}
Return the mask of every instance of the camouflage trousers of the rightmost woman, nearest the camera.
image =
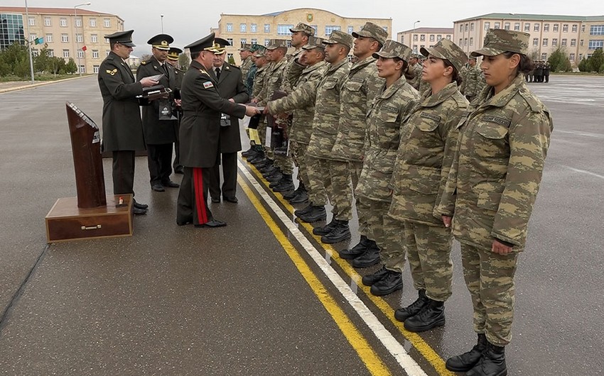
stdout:
{"type": "Polygon", "coordinates": [[[485,333],[493,345],[505,346],[512,341],[518,255],[499,255],[461,243],[463,277],[474,307],[474,331],[485,333]]]}

